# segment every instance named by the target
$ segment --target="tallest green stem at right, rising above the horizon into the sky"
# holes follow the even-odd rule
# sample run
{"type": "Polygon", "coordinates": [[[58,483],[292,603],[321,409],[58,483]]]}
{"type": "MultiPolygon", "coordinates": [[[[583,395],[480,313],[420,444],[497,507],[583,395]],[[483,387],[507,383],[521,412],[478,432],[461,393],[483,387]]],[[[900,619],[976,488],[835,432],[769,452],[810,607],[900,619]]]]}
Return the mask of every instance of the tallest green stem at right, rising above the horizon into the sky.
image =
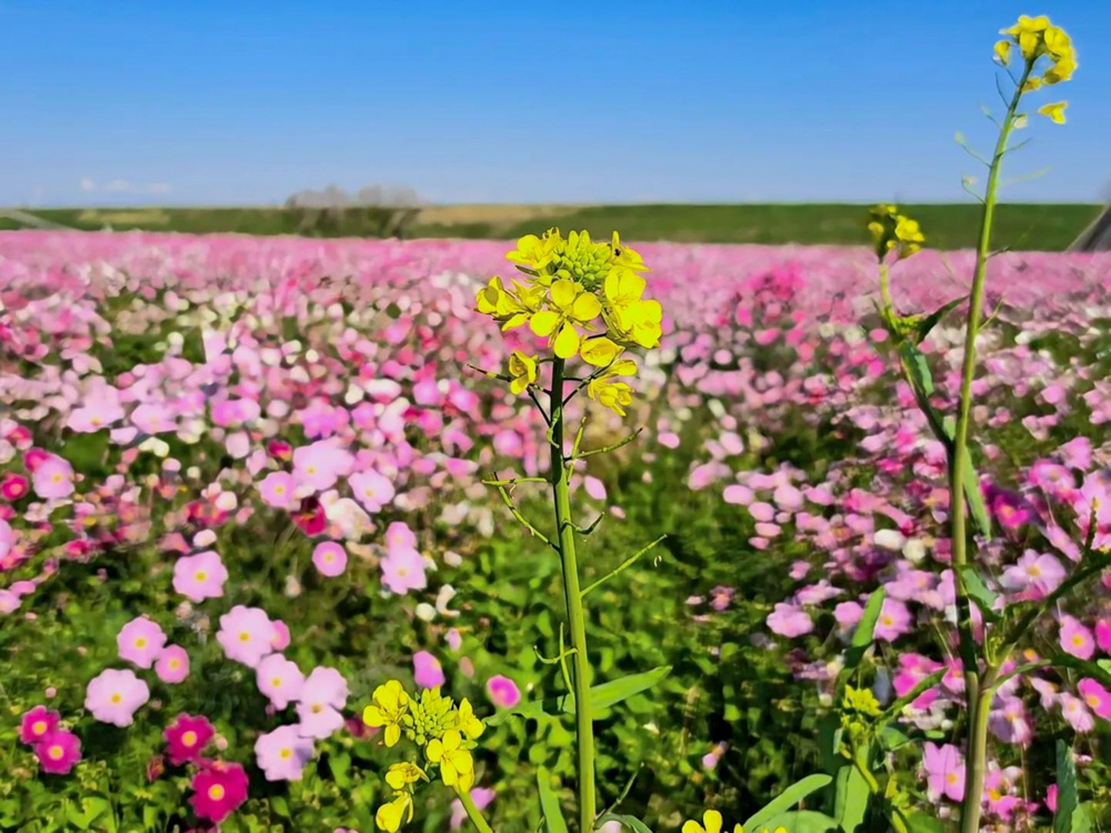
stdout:
{"type": "MultiPolygon", "coordinates": [[[[1007,117],[999,131],[999,141],[991,159],[988,185],[983,199],[983,219],[980,224],[980,242],[977,247],[975,273],[969,297],[968,331],[964,340],[964,362],[961,369],[961,399],[953,436],[953,459],[949,472],[950,483],[950,538],[953,548],[953,582],[957,590],[957,628],[961,640],[961,656],[964,661],[965,695],[969,702],[968,760],[964,780],[964,800],[961,810],[961,833],[977,833],[980,830],[980,809],[983,797],[984,769],[988,751],[988,717],[994,695],[994,670],[987,669],[980,674],[972,636],[972,605],[969,601],[963,569],[968,564],[967,509],[964,505],[964,472],[969,468],[969,423],[972,414],[972,379],[975,375],[975,340],[980,333],[983,315],[984,279],[988,274],[988,259],[991,252],[991,224],[995,214],[995,195],[999,190],[999,171],[1002,168],[1007,142],[1014,129],[1015,111],[1022,98],[1022,87],[1030,76],[1031,63],[1014,90],[1007,117]]],[[[970,484],[975,488],[975,484],[970,484]]]]}

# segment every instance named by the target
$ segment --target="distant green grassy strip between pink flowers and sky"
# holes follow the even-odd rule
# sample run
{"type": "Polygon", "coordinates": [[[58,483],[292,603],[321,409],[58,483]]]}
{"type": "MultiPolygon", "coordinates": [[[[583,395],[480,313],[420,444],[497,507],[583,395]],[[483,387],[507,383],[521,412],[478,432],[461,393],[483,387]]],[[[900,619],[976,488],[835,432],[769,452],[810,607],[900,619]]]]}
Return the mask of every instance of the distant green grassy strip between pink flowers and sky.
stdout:
{"type": "MultiPolygon", "coordinates": [[[[961,249],[975,244],[979,205],[902,205],[918,219],[929,244],[961,249]]],[[[1059,251],[1100,212],[1093,204],[1004,204],[999,209],[995,245],[1059,251]]],[[[865,205],[443,205],[423,209],[404,230],[407,238],[514,238],[550,225],[587,229],[607,237],[613,229],[628,240],[703,243],[861,243],[868,238],[865,205]]],[[[281,208],[112,208],[48,209],[43,220],[74,229],[146,229],[190,233],[296,234],[304,225],[281,208]]],[[[320,237],[377,237],[380,211],[350,210],[320,237]]],[[[20,228],[0,217],[0,230],[20,228]]]]}

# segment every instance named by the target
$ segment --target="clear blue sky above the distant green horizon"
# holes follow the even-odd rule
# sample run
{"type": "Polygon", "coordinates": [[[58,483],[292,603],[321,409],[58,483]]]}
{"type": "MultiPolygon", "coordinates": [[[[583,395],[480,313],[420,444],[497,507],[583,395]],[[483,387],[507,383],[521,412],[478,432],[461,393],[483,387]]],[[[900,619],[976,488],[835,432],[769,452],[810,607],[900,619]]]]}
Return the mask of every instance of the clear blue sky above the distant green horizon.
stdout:
{"type": "Polygon", "coordinates": [[[1014,200],[1111,195],[1111,3],[0,0],[0,204],[958,201],[997,30],[1050,13],[1014,200]],[[557,9],[558,7],[558,9],[557,9]],[[1051,8],[1050,8],[1051,7],[1051,8]]]}

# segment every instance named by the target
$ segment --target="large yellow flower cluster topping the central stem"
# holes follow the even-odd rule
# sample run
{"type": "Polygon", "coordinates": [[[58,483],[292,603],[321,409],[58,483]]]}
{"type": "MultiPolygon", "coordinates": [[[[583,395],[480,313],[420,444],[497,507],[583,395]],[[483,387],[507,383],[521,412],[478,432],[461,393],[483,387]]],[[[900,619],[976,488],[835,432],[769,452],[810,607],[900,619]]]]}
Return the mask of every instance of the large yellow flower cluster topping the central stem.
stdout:
{"type": "MultiPolygon", "coordinates": [[[[579,357],[599,368],[587,394],[619,414],[632,402],[632,388],[620,377],[637,373],[622,359],[628,348],[652,349],[662,334],[663,310],[644,298],[648,271],[641,255],[621,243],[594,242],[585,231],[565,239],[559,229],[528,234],[506,255],[524,275],[508,285],[494,277],[476,299],[479,312],[501,322],[502,330],[529,325],[548,339],[557,359],[579,357]]],[[[509,358],[510,390],[524,393],[537,383],[538,357],[514,350],[509,358]]]]}

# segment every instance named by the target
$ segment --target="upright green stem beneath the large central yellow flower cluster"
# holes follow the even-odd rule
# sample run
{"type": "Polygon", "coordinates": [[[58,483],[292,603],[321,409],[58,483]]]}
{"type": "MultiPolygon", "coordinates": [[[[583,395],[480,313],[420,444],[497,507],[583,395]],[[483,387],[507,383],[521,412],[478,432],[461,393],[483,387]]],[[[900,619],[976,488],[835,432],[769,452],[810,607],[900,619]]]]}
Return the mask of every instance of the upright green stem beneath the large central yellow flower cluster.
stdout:
{"type": "Polygon", "coordinates": [[[563,458],[563,360],[552,364],[551,388],[551,483],[556,502],[559,553],[563,565],[563,599],[567,602],[568,629],[574,649],[571,675],[574,685],[574,723],[579,759],[579,831],[594,830],[594,723],[590,709],[590,660],[587,655],[587,623],[582,614],[579,564],[574,554],[574,525],[568,490],[567,461],[563,458]]]}

